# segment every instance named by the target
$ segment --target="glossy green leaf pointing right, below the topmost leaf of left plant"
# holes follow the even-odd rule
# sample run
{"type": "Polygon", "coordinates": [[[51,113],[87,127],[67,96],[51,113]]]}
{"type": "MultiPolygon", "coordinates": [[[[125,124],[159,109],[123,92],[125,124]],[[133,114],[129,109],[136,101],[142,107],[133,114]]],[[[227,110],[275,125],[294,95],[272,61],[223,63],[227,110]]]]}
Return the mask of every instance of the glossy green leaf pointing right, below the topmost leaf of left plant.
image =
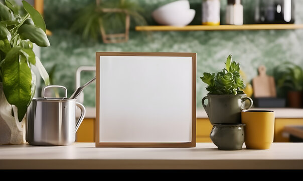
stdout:
{"type": "Polygon", "coordinates": [[[23,40],[29,39],[31,42],[36,43],[38,46],[50,46],[50,42],[45,32],[34,25],[24,24],[18,29],[20,38],[23,40]]]}

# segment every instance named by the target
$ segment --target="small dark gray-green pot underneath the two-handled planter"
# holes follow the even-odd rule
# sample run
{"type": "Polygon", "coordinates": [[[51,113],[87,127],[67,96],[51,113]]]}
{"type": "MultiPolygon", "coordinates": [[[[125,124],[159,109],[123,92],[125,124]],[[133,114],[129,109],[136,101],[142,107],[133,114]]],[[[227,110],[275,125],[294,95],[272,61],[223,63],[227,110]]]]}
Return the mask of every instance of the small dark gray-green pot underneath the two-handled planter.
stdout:
{"type": "Polygon", "coordinates": [[[241,150],[245,124],[215,124],[210,138],[220,150],[241,150]]]}

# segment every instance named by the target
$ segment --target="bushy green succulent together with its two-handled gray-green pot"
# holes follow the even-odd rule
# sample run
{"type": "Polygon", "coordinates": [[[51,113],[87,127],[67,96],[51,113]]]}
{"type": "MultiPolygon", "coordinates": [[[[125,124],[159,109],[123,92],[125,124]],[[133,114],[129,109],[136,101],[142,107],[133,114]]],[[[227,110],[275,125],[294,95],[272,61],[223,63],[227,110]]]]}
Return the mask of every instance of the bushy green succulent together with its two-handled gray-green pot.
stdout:
{"type": "Polygon", "coordinates": [[[207,84],[206,89],[209,91],[202,99],[202,105],[211,124],[240,124],[245,101],[250,102],[247,109],[252,107],[253,102],[242,91],[245,83],[240,77],[239,63],[232,61],[232,55],[229,55],[222,71],[217,74],[204,72],[200,78],[207,84]]]}

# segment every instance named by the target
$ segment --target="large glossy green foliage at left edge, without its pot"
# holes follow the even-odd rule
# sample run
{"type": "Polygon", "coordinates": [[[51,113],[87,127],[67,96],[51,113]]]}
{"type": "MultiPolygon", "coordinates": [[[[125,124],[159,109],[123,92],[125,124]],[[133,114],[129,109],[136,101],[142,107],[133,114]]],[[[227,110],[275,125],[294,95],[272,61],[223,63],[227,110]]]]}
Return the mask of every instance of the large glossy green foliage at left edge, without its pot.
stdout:
{"type": "Polygon", "coordinates": [[[46,36],[45,22],[40,13],[29,3],[22,1],[26,12],[21,16],[14,2],[0,3],[0,82],[11,105],[18,108],[21,122],[27,112],[36,89],[36,66],[49,84],[49,75],[33,51],[33,44],[41,47],[50,45],[46,36]]]}

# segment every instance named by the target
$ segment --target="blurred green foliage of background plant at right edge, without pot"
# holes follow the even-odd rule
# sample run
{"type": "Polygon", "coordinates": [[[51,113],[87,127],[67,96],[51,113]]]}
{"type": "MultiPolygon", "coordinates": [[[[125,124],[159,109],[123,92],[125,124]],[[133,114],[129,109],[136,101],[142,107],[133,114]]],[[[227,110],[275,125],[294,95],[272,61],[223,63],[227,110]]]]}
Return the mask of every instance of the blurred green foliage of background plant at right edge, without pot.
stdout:
{"type": "Polygon", "coordinates": [[[291,91],[303,91],[303,70],[292,62],[284,62],[273,70],[277,87],[291,91]]]}

